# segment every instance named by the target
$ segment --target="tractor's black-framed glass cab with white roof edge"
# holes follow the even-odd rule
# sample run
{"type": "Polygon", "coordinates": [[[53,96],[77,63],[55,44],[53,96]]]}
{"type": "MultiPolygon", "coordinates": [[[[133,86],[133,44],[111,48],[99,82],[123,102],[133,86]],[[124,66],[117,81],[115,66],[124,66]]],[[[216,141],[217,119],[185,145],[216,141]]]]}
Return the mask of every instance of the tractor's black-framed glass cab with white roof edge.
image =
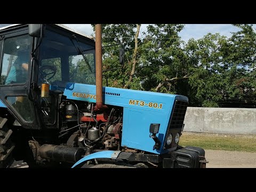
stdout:
{"type": "Polygon", "coordinates": [[[95,84],[92,37],[63,25],[12,25],[0,29],[0,38],[0,102],[23,127],[56,127],[54,104],[66,83],[95,84]]]}

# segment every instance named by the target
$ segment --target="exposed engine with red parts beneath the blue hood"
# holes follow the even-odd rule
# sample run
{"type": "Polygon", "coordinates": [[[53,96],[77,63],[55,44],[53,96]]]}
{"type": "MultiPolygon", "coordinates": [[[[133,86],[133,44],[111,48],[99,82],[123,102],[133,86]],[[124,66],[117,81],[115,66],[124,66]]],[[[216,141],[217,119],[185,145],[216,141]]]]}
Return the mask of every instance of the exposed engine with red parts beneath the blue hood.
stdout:
{"type": "Polygon", "coordinates": [[[94,105],[86,101],[61,101],[60,140],[70,147],[120,150],[123,108],[109,106],[106,111],[97,111],[94,105]]]}

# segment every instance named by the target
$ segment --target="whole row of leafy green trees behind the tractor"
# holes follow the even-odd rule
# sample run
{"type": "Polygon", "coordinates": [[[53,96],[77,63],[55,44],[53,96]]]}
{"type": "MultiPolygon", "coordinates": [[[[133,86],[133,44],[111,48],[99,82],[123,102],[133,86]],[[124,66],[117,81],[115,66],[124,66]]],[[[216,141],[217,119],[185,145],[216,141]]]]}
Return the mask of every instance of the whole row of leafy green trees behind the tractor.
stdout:
{"type": "MultiPolygon", "coordinates": [[[[195,107],[220,107],[225,100],[255,98],[256,35],[252,25],[230,38],[207,34],[181,41],[184,25],[102,25],[102,44],[125,45],[125,66],[106,71],[109,86],[182,94],[195,107]]],[[[119,47],[103,48],[103,70],[120,67],[119,47]]]]}

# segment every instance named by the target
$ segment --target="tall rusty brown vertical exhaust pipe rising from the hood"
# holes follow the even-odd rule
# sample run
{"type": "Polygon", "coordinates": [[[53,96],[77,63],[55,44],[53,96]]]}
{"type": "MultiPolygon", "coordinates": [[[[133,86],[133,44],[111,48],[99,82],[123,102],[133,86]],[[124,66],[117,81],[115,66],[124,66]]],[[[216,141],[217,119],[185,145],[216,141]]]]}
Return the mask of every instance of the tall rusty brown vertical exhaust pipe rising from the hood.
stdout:
{"type": "Polygon", "coordinates": [[[108,109],[102,102],[102,40],[101,40],[101,24],[95,25],[95,57],[96,57],[96,106],[95,110],[108,109]]]}

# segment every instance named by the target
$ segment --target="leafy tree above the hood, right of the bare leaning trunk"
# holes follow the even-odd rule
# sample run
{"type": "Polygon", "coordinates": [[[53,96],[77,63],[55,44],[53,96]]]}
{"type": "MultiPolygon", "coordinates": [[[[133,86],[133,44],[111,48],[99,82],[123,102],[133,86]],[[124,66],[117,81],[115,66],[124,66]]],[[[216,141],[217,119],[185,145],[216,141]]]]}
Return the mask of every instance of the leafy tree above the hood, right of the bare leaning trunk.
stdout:
{"type": "Polygon", "coordinates": [[[184,25],[149,25],[143,35],[138,76],[143,90],[163,93],[185,93],[182,86],[188,78],[187,55],[179,32],[184,25]]]}

